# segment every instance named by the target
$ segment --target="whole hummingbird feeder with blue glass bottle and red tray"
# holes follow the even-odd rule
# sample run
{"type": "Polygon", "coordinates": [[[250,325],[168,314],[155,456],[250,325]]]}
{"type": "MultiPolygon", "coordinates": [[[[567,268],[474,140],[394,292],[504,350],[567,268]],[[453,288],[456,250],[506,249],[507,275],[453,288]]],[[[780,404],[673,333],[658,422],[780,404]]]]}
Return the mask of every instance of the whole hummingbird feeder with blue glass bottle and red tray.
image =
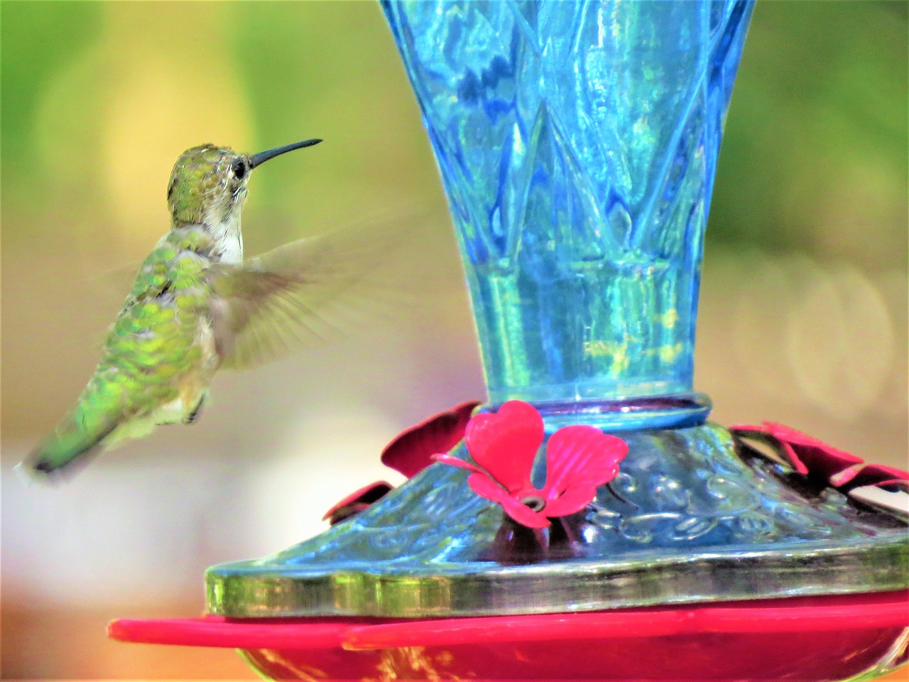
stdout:
{"type": "Polygon", "coordinates": [[[903,665],[909,474],[693,388],[704,225],[753,0],[385,0],[454,217],[488,401],[408,480],[207,571],[123,641],[266,677],[835,680],[903,665]]]}

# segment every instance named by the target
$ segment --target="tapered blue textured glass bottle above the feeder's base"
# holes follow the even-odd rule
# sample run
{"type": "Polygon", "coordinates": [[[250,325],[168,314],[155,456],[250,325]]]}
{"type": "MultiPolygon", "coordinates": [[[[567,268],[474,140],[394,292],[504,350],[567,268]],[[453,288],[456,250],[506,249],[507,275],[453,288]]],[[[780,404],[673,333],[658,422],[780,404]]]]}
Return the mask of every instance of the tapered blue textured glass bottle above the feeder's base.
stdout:
{"type": "Polygon", "coordinates": [[[690,393],[751,2],[384,8],[454,216],[491,401],[690,393]]]}

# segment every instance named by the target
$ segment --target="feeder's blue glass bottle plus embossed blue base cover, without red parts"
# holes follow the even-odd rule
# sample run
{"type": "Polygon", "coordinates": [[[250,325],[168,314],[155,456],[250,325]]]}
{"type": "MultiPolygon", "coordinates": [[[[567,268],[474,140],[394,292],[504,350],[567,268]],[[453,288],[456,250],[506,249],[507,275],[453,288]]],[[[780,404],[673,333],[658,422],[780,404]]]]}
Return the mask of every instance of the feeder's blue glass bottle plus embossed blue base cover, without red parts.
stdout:
{"type": "Polygon", "coordinates": [[[209,612],[478,616],[904,589],[903,521],[744,451],[694,392],[704,225],[751,0],[383,7],[454,216],[484,409],[521,399],[547,434],[598,426],[628,455],[613,489],[562,519],[570,542],[509,535],[463,470],[429,466],[295,547],[210,568],[209,612]]]}

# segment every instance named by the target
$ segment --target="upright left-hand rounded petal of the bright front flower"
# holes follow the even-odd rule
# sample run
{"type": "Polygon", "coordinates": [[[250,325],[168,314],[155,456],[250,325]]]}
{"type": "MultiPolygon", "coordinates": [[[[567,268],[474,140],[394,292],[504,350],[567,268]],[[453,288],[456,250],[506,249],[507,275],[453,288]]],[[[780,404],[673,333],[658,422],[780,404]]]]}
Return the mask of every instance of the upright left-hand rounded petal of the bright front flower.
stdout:
{"type": "Polygon", "coordinates": [[[520,400],[509,400],[496,414],[474,416],[467,424],[467,450],[509,492],[530,486],[536,451],[543,444],[543,417],[520,400]]]}

